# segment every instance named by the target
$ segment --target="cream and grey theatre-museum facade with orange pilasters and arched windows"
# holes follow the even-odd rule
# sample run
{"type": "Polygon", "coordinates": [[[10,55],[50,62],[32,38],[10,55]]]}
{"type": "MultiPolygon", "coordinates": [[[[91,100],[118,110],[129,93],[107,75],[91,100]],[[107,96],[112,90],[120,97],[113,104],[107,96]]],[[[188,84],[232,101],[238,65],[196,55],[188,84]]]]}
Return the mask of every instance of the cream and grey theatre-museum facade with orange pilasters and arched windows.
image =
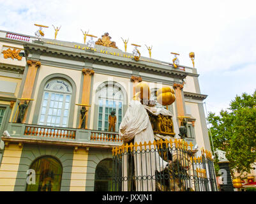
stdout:
{"type": "Polygon", "coordinates": [[[142,80],[151,99],[174,88],[176,101],[156,106],[172,112],[176,133],[185,117],[185,140],[211,150],[197,69],[136,61],[108,37],[89,48],[0,31],[0,191],[111,191],[112,148],[123,144],[118,128],[142,80]]]}

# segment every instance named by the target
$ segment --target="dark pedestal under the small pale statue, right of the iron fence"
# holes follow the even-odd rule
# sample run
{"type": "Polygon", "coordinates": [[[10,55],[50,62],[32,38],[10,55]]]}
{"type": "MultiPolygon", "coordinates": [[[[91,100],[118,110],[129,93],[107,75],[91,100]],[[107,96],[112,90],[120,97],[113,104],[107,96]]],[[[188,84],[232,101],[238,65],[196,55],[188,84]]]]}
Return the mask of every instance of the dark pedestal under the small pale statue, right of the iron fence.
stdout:
{"type": "Polygon", "coordinates": [[[227,177],[226,179],[224,178],[224,181],[222,184],[222,191],[234,191],[232,179],[230,176],[230,169],[229,169],[229,161],[220,161],[218,162],[218,165],[220,167],[220,171],[223,170],[223,177],[227,177]]]}

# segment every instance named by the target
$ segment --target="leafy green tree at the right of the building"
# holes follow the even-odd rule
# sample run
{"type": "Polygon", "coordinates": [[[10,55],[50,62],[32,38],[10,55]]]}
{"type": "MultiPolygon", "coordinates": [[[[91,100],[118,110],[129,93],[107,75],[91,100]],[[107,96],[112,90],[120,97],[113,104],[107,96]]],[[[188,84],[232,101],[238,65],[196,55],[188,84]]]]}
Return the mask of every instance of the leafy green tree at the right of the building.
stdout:
{"type": "Polygon", "coordinates": [[[232,174],[250,172],[256,164],[256,91],[236,96],[227,110],[210,112],[207,120],[213,145],[226,152],[232,174]]]}

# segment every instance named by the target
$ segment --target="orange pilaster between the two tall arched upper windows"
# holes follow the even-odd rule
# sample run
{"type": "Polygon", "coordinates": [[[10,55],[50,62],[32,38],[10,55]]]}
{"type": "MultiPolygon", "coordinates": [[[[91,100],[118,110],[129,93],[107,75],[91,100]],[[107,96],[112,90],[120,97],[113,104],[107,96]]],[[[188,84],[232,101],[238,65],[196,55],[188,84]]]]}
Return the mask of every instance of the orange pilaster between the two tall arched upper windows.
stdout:
{"type": "MultiPolygon", "coordinates": [[[[82,104],[86,104],[89,105],[90,103],[90,93],[91,93],[91,77],[94,74],[93,69],[82,69],[82,74],[84,75],[84,80],[83,80],[83,84],[82,84],[82,100],[81,103],[82,104]]],[[[87,108],[88,110],[88,108],[87,108]]],[[[80,111],[80,110],[79,110],[80,111]]],[[[87,129],[87,121],[88,121],[88,112],[89,110],[86,112],[86,129],[87,129]]],[[[79,122],[79,128],[81,126],[82,123],[82,119],[80,117],[80,122],[79,122]]]]}

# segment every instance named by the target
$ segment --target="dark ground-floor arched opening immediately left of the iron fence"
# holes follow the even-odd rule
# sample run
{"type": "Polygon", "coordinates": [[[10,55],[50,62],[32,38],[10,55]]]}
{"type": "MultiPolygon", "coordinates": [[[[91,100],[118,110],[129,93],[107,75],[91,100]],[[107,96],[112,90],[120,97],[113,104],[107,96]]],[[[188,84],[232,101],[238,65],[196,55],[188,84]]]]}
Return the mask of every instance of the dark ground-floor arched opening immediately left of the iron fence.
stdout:
{"type": "Polygon", "coordinates": [[[98,163],[94,177],[94,191],[112,191],[112,159],[103,159],[98,163]]]}

